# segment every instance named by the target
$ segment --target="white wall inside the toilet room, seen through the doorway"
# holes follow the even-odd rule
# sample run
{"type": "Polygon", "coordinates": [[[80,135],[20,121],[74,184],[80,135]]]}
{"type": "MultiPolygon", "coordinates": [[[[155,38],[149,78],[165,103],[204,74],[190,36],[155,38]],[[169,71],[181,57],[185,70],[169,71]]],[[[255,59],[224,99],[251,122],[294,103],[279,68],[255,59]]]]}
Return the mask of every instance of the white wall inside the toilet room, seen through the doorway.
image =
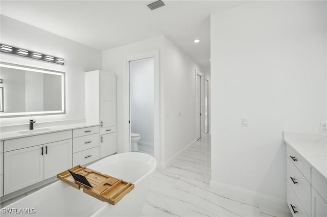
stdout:
{"type": "Polygon", "coordinates": [[[139,143],[154,142],[153,58],[130,62],[131,130],[141,134],[139,143]]]}

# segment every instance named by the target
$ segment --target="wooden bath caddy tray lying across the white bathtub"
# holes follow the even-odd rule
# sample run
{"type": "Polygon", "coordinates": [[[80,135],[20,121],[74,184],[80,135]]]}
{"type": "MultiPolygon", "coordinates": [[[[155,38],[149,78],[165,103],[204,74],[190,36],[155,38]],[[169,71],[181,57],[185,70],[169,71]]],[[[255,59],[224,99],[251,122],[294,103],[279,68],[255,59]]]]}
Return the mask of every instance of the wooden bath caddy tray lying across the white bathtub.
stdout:
{"type": "Polygon", "coordinates": [[[112,205],[120,201],[127,193],[132,191],[134,184],[126,182],[122,179],[114,178],[102,174],[100,172],[82,167],[80,165],[69,169],[77,174],[85,176],[87,181],[91,184],[91,187],[76,182],[71,173],[68,170],[61,172],[57,175],[58,179],[63,182],[72,185],[73,187],[80,189],[83,188],[83,192],[95,197],[99,200],[108,202],[112,205]]]}

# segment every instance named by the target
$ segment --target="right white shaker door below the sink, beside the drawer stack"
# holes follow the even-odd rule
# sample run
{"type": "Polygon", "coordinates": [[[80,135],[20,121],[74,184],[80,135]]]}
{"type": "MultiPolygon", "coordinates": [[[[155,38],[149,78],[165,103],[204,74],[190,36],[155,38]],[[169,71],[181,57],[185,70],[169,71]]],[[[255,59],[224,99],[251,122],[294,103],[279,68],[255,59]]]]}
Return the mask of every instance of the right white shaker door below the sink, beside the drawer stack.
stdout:
{"type": "Polygon", "coordinates": [[[44,179],[73,167],[72,150],[72,140],[44,145],[44,179]]]}

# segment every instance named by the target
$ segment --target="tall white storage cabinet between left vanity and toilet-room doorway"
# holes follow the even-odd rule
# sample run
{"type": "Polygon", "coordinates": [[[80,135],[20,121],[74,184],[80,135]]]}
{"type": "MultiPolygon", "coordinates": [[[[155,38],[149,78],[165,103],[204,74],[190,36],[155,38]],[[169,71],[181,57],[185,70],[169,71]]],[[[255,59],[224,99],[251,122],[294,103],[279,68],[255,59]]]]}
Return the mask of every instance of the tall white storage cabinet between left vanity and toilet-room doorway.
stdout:
{"type": "Polygon", "coordinates": [[[85,119],[100,124],[100,157],[117,152],[116,74],[85,72],[85,119]]]}

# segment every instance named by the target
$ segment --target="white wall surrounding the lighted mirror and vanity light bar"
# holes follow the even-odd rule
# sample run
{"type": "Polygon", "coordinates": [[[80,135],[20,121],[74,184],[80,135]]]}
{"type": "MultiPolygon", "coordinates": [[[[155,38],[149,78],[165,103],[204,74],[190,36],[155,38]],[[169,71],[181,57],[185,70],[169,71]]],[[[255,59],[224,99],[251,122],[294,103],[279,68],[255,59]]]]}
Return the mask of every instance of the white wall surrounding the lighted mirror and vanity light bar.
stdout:
{"type": "MultiPolygon", "coordinates": [[[[65,59],[65,65],[0,53],[1,61],[66,72],[66,114],[36,116],[37,122],[84,119],[84,72],[101,69],[102,52],[1,15],[1,43],[65,59]]],[[[29,117],[2,118],[0,125],[28,124],[29,117]]]]}

